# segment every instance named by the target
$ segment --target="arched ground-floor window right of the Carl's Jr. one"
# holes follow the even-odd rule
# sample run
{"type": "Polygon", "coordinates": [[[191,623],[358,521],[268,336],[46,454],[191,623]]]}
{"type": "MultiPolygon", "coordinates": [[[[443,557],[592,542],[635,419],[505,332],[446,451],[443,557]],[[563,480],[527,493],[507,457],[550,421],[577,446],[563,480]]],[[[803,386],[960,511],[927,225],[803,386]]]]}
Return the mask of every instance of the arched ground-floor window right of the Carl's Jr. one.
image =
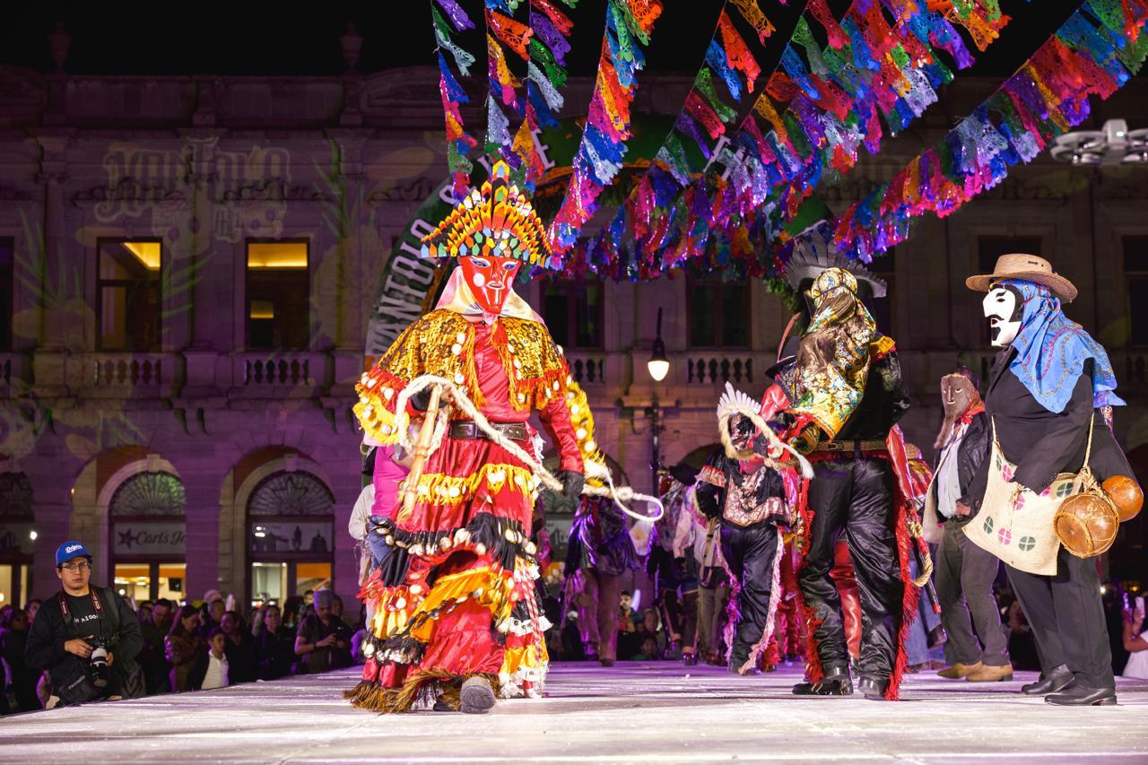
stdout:
{"type": "Polygon", "coordinates": [[[251,604],[331,585],[335,497],[313,473],[279,471],[247,501],[251,604]]]}

